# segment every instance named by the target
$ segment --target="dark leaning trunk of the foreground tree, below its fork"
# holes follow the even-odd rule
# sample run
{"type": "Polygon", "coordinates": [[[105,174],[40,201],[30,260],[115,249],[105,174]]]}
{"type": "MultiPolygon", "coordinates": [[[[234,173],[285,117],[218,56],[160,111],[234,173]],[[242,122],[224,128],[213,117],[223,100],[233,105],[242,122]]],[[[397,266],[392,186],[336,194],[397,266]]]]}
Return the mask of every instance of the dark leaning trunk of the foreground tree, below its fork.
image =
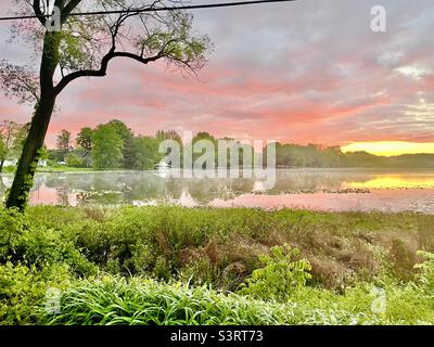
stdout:
{"type": "Polygon", "coordinates": [[[27,204],[39,160],[39,151],[42,149],[43,140],[46,139],[54,104],[55,97],[54,94],[50,94],[41,98],[36,108],[18,167],[16,168],[15,178],[8,196],[8,208],[16,207],[23,210],[27,204]]]}

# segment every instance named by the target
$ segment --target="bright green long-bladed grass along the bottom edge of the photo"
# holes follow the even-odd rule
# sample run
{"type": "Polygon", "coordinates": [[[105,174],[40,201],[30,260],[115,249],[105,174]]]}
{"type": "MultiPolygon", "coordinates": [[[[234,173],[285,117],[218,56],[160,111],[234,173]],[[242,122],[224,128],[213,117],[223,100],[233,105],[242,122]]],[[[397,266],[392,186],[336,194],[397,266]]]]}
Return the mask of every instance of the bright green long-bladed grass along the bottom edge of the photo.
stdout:
{"type": "Polygon", "coordinates": [[[206,286],[161,283],[143,278],[80,281],[66,290],[61,313],[41,313],[41,324],[67,325],[276,325],[433,324],[432,296],[411,286],[386,285],[384,312],[373,312],[372,286],[345,295],[299,288],[285,303],[222,294],[206,286]]]}

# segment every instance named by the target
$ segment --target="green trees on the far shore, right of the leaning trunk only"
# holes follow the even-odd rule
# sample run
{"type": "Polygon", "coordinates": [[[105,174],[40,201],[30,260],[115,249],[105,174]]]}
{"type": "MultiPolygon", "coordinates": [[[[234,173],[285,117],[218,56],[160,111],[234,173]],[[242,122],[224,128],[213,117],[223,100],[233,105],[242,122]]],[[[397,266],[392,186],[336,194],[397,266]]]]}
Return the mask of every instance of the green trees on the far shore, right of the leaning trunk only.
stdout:
{"type": "MultiPolygon", "coordinates": [[[[66,130],[62,130],[60,139],[64,138],[66,130]]],[[[136,137],[123,121],[114,119],[105,125],[99,125],[95,129],[82,128],[77,136],[77,149],[67,154],[61,146],[51,151],[51,158],[66,162],[67,166],[87,167],[90,166],[90,154],[93,167],[102,168],[125,168],[125,169],[152,169],[164,157],[158,153],[158,145],[163,140],[175,140],[182,143],[181,137],[174,130],[157,131],[154,137],[136,137]],[[108,129],[112,129],[110,131],[108,129]],[[71,158],[72,155],[75,157],[71,158]],[[88,159],[86,159],[88,157],[88,159]]],[[[218,140],[208,132],[199,132],[192,139],[192,145],[201,140],[208,140],[215,146],[215,166],[218,166],[219,153],[217,152],[218,140]]],[[[226,138],[225,140],[233,140],[226,138]]],[[[242,151],[252,151],[252,146],[241,145],[237,141],[232,145],[239,146],[242,165],[242,151]]],[[[203,149],[202,149],[203,151],[203,149]]],[[[193,159],[199,158],[203,152],[193,152],[193,159]]],[[[229,155],[229,153],[228,153],[229,155]]],[[[266,156],[266,155],[265,155],[266,156]]],[[[379,167],[379,168],[434,168],[433,154],[409,154],[394,157],[382,157],[366,152],[343,153],[339,146],[324,146],[318,144],[282,144],[276,145],[276,164],[278,167],[379,167]]],[[[264,157],[264,162],[266,158],[264,157]]],[[[229,163],[229,157],[228,157],[229,163]]]]}

